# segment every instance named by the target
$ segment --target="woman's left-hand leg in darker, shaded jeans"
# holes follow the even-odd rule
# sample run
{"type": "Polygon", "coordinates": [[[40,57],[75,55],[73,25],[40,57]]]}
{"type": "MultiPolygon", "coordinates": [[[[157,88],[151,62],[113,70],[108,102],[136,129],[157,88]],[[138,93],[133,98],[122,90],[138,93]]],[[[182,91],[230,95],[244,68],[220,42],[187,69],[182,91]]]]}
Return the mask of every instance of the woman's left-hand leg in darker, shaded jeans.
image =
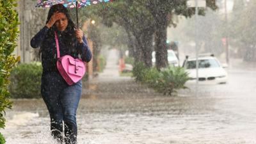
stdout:
{"type": "Polygon", "coordinates": [[[60,100],[61,85],[55,74],[42,79],[41,93],[51,118],[51,135],[59,143],[63,141],[63,111],[60,100]]]}

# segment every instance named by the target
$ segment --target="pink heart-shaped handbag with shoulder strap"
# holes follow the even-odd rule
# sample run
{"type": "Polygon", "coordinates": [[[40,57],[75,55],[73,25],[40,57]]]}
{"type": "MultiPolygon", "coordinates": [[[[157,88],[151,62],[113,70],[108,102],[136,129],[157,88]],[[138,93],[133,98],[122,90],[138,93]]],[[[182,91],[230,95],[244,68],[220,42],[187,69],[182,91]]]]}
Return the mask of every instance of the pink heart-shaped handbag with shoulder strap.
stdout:
{"type": "Polygon", "coordinates": [[[56,31],[55,41],[57,47],[57,68],[68,85],[77,83],[80,79],[83,78],[86,68],[85,63],[79,58],[73,58],[72,56],[65,55],[60,58],[60,46],[58,42],[58,36],[56,31]]]}

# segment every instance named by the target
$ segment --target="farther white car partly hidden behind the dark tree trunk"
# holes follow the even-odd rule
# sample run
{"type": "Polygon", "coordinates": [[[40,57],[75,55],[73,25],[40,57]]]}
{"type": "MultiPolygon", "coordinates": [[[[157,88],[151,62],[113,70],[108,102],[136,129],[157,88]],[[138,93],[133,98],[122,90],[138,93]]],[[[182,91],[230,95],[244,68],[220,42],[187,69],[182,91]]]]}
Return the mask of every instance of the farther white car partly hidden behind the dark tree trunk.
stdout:
{"type": "MultiPolygon", "coordinates": [[[[167,52],[168,52],[167,59],[168,59],[169,65],[174,65],[175,67],[178,67],[179,60],[178,60],[175,52],[172,50],[167,50],[167,52]]],[[[155,51],[152,52],[152,63],[153,63],[153,65],[155,65],[155,63],[156,63],[156,52],[155,51]]]]}

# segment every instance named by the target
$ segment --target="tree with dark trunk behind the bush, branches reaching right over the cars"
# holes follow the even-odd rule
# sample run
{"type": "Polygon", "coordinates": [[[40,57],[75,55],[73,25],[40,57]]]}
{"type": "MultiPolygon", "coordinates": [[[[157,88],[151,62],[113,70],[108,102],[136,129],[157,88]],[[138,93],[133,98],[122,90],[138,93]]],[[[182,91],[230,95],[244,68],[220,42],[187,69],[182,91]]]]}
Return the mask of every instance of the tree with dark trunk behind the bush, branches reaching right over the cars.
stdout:
{"type": "MultiPolygon", "coordinates": [[[[156,35],[155,35],[155,51],[156,51],[156,67],[158,69],[166,67],[168,65],[167,60],[167,27],[173,22],[173,15],[184,15],[185,17],[191,17],[195,14],[195,8],[188,8],[186,0],[144,0],[141,4],[145,3],[149,12],[156,20],[156,35]]],[[[207,0],[207,7],[216,10],[217,6],[215,0],[207,0]]],[[[200,15],[204,15],[204,9],[200,9],[200,15]]]]}

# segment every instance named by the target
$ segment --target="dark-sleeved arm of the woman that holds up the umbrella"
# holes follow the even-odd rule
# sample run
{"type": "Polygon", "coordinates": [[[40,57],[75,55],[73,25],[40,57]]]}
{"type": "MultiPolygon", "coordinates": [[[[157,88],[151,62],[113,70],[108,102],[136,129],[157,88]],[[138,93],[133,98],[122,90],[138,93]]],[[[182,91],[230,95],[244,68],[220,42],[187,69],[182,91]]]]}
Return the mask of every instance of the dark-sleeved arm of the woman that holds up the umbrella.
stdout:
{"type": "Polygon", "coordinates": [[[83,61],[89,62],[92,59],[92,52],[88,47],[88,43],[85,36],[83,36],[82,43],[77,42],[77,49],[79,54],[81,54],[81,58],[83,61]]]}

